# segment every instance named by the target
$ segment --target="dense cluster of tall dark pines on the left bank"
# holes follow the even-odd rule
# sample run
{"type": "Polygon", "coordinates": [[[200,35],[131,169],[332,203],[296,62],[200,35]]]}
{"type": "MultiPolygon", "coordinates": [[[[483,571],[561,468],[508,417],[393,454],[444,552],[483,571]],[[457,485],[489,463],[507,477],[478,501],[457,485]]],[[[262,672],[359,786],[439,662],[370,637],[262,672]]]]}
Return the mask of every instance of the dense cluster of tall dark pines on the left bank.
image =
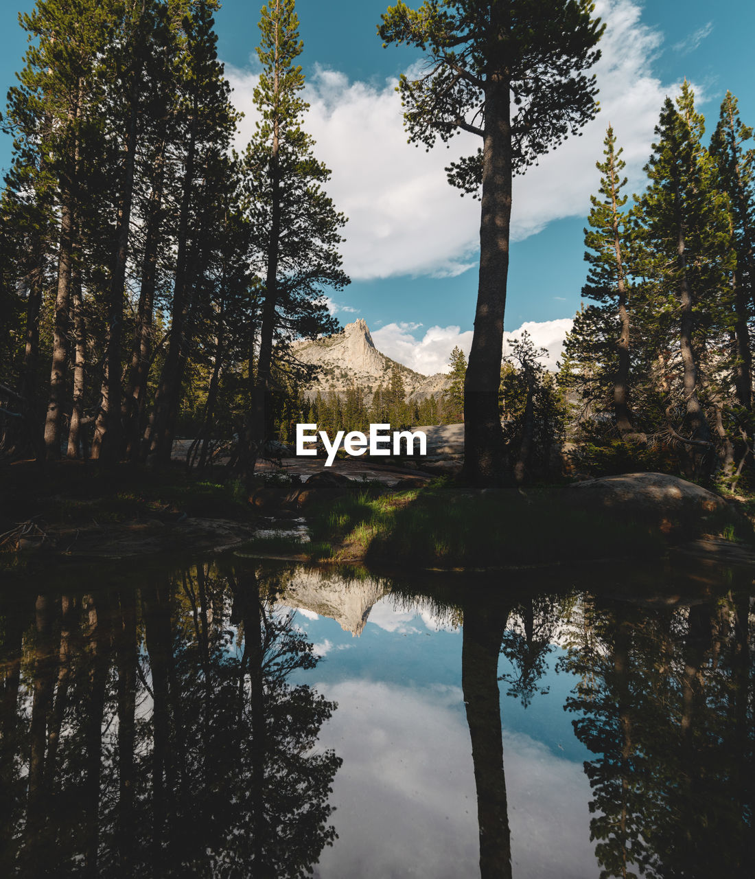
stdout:
{"type": "Polygon", "coordinates": [[[235,434],[253,469],[272,387],[303,377],[288,343],[337,329],[323,291],[348,283],[345,218],[300,127],[294,4],[262,11],[242,155],[217,5],[42,2],[21,18],[0,233],[6,456],[164,463],[191,417],[200,458],[211,434],[235,434]]]}

